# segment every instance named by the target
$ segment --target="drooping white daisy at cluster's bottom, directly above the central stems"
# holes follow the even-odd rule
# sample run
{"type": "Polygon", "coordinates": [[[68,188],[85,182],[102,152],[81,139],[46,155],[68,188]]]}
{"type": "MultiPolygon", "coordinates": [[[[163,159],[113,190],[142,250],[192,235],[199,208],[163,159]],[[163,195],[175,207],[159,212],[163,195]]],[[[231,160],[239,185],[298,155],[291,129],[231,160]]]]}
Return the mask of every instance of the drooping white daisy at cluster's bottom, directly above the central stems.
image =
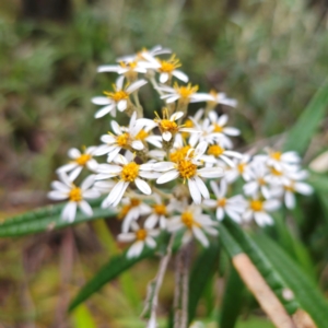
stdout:
{"type": "Polygon", "coordinates": [[[218,235],[216,223],[211,220],[211,216],[202,214],[201,208],[197,206],[189,206],[183,210],[177,209],[177,211],[180,215],[172,216],[167,222],[167,230],[175,232],[187,229],[183,236],[183,243],[188,243],[195,236],[202,246],[208,247],[209,241],[204,233],[218,235]]]}

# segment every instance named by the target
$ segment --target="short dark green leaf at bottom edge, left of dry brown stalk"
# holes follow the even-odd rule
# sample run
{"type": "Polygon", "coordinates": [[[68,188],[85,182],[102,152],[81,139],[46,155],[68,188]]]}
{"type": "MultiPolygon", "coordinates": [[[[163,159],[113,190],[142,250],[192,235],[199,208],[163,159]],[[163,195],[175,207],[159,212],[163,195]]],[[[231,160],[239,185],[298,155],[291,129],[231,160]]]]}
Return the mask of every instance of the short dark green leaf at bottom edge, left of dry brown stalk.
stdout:
{"type": "Polygon", "coordinates": [[[231,268],[226,281],[223,302],[219,316],[219,327],[234,328],[242,309],[245,285],[234,267],[231,268]]]}

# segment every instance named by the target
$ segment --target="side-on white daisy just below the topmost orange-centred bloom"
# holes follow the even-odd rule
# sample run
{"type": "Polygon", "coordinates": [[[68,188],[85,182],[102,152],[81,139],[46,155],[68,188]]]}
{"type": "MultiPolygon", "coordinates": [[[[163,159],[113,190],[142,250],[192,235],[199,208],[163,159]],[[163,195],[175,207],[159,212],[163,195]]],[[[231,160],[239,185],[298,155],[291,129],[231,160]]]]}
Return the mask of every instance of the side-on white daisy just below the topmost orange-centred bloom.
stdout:
{"type": "Polygon", "coordinates": [[[207,101],[207,97],[202,94],[198,94],[198,85],[178,85],[174,83],[174,86],[157,86],[157,90],[164,92],[165,94],[161,96],[161,99],[164,99],[166,104],[172,104],[178,101],[178,106],[187,106],[189,103],[199,103],[207,101]]]}

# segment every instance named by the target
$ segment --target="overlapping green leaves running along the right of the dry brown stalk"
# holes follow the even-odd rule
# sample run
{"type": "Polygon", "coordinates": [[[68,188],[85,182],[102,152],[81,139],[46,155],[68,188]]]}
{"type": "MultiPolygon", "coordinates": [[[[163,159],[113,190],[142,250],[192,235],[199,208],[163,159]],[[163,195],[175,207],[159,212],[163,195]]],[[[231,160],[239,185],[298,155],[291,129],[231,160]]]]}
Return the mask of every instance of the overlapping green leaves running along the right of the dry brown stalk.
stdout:
{"type": "MultiPolygon", "coordinates": [[[[325,327],[328,304],[313,282],[277,243],[265,234],[250,237],[231,220],[225,220],[220,233],[230,234],[243,253],[246,253],[265,278],[271,290],[281,301],[285,309],[293,314],[297,308],[305,309],[318,327],[325,327]],[[222,230],[224,225],[225,229],[222,230]],[[291,290],[293,298],[283,296],[283,291],[291,290]]],[[[230,244],[223,246],[229,250],[230,244]]]]}

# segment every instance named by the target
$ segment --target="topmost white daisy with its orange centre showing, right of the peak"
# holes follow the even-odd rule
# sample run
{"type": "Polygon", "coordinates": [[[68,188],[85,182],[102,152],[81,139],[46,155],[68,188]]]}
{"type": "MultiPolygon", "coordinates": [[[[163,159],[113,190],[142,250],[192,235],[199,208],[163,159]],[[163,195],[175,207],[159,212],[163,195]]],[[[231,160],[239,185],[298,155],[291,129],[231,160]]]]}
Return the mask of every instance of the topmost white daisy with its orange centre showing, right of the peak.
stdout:
{"type": "Polygon", "coordinates": [[[189,81],[189,78],[184,72],[177,70],[177,68],[179,68],[181,65],[179,59],[177,59],[175,55],[172,55],[168,60],[161,60],[157,58],[152,58],[150,56],[148,57],[148,60],[150,65],[147,65],[147,67],[152,68],[160,73],[161,83],[166,83],[172,79],[172,77],[175,77],[185,83],[189,81]]]}

